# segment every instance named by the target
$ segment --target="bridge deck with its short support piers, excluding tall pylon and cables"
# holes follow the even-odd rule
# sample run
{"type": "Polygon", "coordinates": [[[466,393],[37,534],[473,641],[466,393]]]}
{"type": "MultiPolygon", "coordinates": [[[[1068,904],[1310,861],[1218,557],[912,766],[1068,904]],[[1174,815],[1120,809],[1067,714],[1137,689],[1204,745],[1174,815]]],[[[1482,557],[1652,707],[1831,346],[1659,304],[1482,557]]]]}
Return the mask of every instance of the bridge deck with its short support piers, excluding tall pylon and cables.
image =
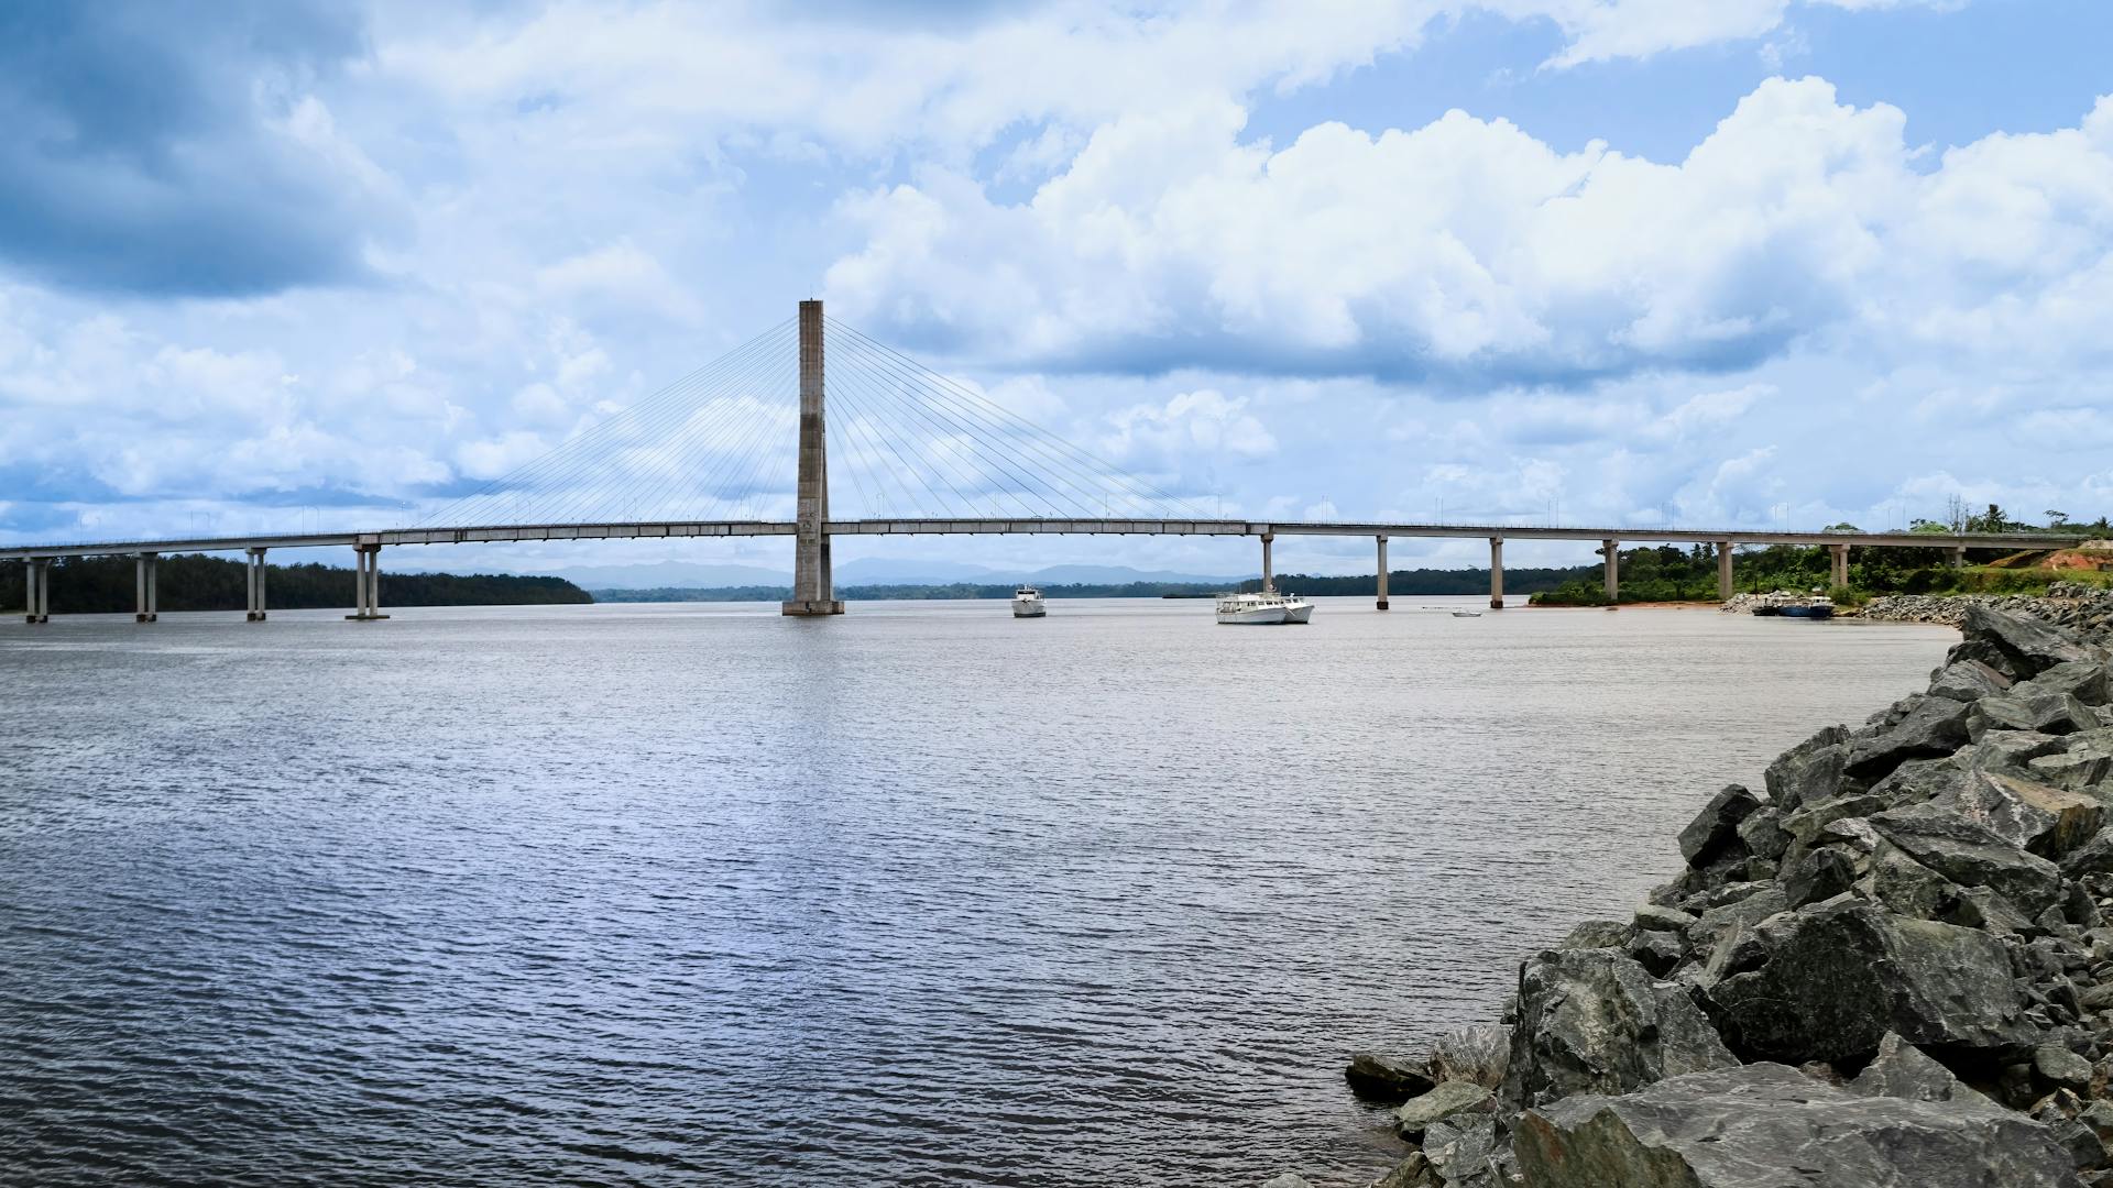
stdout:
{"type": "MultiPolygon", "coordinates": [[[[243,552],[249,558],[249,619],[264,619],[264,554],[296,547],[355,550],[355,613],[349,619],[385,619],[380,613],[380,550],[385,545],[461,545],[511,541],[600,541],[600,539],[687,539],[687,537],[792,537],[792,520],[619,520],[602,524],[484,524],[463,528],[387,528],[376,533],[285,533],[249,537],[180,537],[163,541],[91,541],[51,545],[0,545],[0,560],[30,564],[30,621],[51,615],[51,560],[61,556],[133,556],[139,560],[137,613],[154,621],[154,562],[161,554],[243,552]]],[[[1834,583],[1849,581],[1849,547],[1936,547],[1948,550],[1961,564],[1965,550],[2028,550],[2075,545],[2077,537],[2056,533],[1783,533],[1750,528],[1591,528],[1591,526],[1517,526],[1517,524],[1380,524],[1380,522],[1274,522],[1274,520],[830,520],[828,537],[964,537],[964,535],[1092,535],[1092,537],[1257,537],[1261,541],[1261,577],[1274,579],[1270,545],[1276,537],[1371,537],[1378,543],[1378,605],[1386,609],[1386,541],[1411,539],[1488,539],[1490,541],[1490,605],[1504,596],[1504,541],[1597,541],[1606,571],[1606,592],[1619,590],[1619,545],[1701,543],[1718,550],[1718,594],[1733,590],[1733,550],[1737,545],[1828,545],[1834,560],[1834,583]]]]}

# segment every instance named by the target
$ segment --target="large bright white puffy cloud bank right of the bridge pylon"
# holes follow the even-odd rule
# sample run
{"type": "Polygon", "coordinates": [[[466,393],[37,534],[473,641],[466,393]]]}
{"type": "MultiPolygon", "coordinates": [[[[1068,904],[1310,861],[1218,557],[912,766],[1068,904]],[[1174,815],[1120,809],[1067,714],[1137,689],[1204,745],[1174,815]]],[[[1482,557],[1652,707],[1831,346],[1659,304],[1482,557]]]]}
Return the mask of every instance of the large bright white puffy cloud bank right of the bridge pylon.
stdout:
{"type": "Polygon", "coordinates": [[[2102,351],[2113,101],[1933,171],[1904,123],[1775,78],[1663,165],[1464,112],[1274,150],[1202,104],[1103,127],[1023,203],[938,169],[854,199],[866,245],[828,294],[896,338],[1044,368],[1469,389],[1737,370],[1866,328],[2102,351]]]}

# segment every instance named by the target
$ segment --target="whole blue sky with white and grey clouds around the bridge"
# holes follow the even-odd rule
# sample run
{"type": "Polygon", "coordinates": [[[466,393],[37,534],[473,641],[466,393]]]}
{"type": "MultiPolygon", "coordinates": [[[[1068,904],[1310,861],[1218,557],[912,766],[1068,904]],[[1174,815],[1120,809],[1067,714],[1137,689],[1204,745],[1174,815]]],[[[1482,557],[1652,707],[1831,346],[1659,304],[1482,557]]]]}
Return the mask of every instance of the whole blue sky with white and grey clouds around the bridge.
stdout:
{"type": "Polygon", "coordinates": [[[2107,44],[2102,0],[8,4],[0,539],[414,522],[807,296],[1228,516],[2094,518],[2107,44]]]}

